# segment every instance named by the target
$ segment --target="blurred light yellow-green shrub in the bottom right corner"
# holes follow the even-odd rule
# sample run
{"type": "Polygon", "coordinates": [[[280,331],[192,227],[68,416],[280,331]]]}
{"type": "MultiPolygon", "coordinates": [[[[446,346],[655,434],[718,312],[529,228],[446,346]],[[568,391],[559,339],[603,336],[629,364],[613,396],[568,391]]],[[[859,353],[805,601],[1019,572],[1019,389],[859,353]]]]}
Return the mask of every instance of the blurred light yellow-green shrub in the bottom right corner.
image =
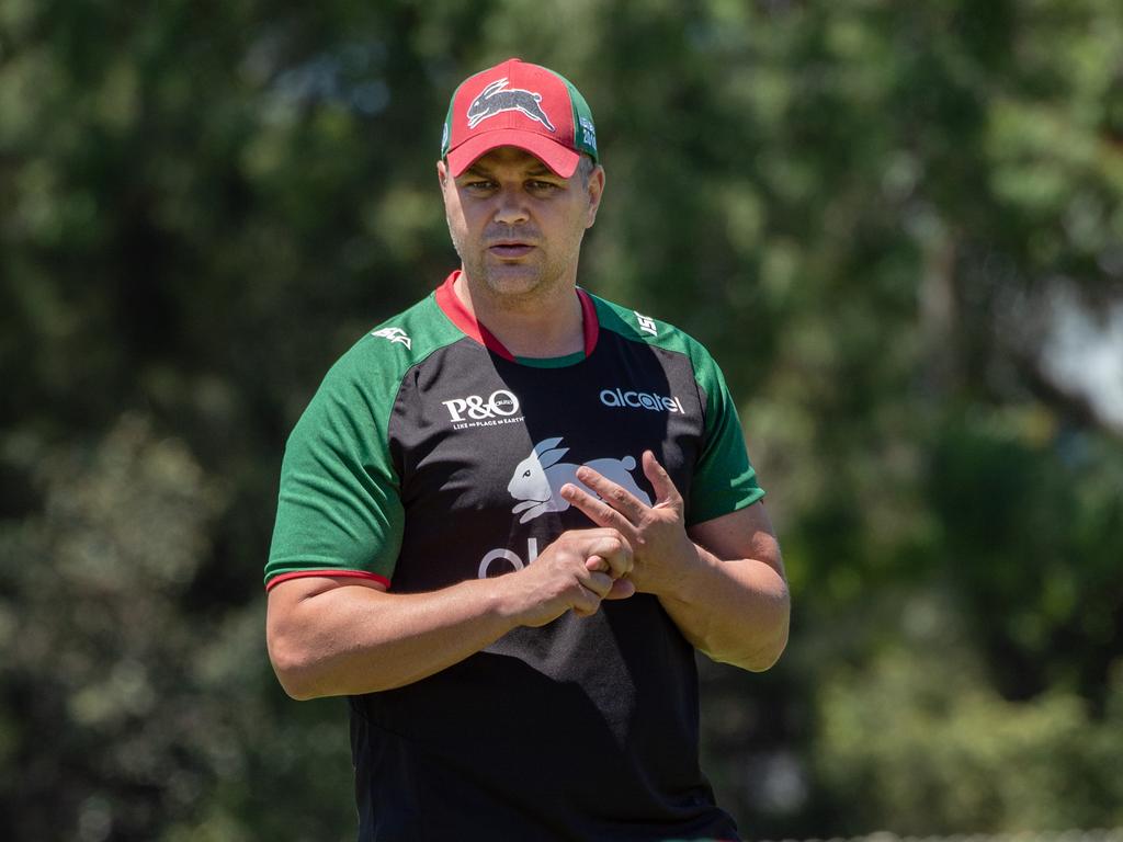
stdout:
{"type": "Polygon", "coordinates": [[[851,827],[1115,827],[1123,822],[1119,677],[1112,714],[1097,717],[1062,690],[1032,705],[1007,702],[956,652],[893,648],[823,687],[816,762],[851,827]]]}

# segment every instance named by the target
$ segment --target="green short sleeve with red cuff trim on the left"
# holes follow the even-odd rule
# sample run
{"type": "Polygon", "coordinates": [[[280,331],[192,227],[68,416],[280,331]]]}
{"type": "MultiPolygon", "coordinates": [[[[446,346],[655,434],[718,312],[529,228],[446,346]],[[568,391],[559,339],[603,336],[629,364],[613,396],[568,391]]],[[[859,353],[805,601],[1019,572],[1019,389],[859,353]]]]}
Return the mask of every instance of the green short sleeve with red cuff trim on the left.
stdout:
{"type": "Polygon", "coordinates": [[[404,521],[386,433],[393,381],[353,349],[296,422],[281,468],[266,588],[312,575],[390,585],[404,521]]]}

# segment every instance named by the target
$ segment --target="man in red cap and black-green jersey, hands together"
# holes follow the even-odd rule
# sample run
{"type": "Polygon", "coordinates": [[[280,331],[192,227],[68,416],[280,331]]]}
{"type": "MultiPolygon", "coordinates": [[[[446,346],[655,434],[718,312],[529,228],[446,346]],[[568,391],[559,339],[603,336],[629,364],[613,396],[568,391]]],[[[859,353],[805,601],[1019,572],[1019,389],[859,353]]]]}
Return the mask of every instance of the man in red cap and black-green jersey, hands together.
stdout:
{"type": "Polygon", "coordinates": [[[766,669],[788,595],[721,373],[576,286],[604,170],[565,79],[465,81],[437,176],[460,268],[285,450],[276,674],[350,697],[362,840],[733,839],[694,649],[766,669]]]}

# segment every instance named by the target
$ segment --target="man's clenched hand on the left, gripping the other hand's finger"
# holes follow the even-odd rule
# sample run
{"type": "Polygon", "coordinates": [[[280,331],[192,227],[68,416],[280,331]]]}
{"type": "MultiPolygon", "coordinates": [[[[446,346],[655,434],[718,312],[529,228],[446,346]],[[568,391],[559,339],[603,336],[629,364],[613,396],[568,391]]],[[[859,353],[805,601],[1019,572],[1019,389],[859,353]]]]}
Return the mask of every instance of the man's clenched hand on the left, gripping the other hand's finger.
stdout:
{"type": "Polygon", "coordinates": [[[636,588],[626,576],[632,549],[615,529],[564,532],[515,574],[503,576],[514,616],[521,625],[546,625],[570,608],[595,614],[602,600],[623,600],[636,588]]]}

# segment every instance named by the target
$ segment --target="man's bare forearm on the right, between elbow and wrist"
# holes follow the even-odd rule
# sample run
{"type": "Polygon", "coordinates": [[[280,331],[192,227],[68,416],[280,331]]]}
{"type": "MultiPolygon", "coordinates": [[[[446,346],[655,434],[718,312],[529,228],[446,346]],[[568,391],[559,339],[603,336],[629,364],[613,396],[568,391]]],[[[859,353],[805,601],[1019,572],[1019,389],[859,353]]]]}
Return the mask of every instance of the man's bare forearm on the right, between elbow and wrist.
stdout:
{"type": "Polygon", "coordinates": [[[694,544],[696,562],[684,567],[659,603],[683,635],[710,658],[761,671],[787,644],[787,583],[772,566],[751,558],[722,560],[694,544]]]}

